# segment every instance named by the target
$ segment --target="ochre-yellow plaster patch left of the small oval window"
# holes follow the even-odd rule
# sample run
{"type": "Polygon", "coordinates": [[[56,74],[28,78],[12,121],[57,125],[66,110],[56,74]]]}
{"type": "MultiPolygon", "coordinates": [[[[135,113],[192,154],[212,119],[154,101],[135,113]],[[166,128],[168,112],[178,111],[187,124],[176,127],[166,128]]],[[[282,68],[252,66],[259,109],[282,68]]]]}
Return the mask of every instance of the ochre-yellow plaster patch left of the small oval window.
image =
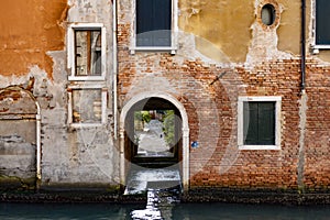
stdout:
{"type": "Polygon", "coordinates": [[[245,61],[255,20],[253,1],[186,0],[179,1],[179,29],[200,38],[198,51],[216,61],[245,61]],[[213,50],[202,50],[211,44],[213,50]]]}

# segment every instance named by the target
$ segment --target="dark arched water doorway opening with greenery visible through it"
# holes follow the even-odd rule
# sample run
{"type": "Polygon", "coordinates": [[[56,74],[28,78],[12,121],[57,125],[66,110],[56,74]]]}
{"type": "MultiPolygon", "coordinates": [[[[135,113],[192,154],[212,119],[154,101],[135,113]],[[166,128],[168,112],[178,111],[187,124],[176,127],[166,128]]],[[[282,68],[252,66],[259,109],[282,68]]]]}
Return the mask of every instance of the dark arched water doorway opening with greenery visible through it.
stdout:
{"type": "Polygon", "coordinates": [[[133,164],[165,167],[182,158],[182,118],[177,108],[162,98],[135,103],[125,119],[125,156],[133,164]]]}

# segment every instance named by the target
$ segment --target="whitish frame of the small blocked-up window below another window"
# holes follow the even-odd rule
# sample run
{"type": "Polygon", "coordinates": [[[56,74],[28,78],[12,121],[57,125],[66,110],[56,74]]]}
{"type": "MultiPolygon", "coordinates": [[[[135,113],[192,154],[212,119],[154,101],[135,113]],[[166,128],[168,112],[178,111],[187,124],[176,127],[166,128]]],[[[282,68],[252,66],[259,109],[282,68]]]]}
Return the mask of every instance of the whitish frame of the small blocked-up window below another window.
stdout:
{"type": "Polygon", "coordinates": [[[108,89],[102,85],[70,85],[67,89],[68,91],[68,117],[67,123],[72,128],[95,128],[95,127],[103,127],[107,124],[107,102],[108,102],[108,89]],[[73,90],[84,90],[84,89],[99,89],[101,90],[101,121],[99,123],[82,123],[82,122],[74,122],[74,99],[73,99],[73,90]]]}

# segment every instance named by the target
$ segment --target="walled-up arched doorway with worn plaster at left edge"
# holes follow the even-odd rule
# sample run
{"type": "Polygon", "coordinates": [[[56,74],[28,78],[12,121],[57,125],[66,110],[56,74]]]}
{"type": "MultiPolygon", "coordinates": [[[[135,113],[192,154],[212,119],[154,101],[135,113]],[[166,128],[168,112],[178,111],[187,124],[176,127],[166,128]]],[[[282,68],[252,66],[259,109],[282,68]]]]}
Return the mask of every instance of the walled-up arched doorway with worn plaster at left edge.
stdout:
{"type": "Polygon", "coordinates": [[[0,186],[35,178],[35,114],[30,91],[0,89],[0,186]]]}

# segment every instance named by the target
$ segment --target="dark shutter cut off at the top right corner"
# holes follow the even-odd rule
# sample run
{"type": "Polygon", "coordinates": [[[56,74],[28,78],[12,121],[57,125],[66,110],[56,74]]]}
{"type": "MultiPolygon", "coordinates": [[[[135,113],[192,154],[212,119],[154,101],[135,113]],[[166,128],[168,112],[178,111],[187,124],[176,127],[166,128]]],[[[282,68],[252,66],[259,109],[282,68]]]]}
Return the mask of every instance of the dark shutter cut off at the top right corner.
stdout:
{"type": "Polygon", "coordinates": [[[316,1],[316,44],[330,45],[330,1],[316,1]]]}

